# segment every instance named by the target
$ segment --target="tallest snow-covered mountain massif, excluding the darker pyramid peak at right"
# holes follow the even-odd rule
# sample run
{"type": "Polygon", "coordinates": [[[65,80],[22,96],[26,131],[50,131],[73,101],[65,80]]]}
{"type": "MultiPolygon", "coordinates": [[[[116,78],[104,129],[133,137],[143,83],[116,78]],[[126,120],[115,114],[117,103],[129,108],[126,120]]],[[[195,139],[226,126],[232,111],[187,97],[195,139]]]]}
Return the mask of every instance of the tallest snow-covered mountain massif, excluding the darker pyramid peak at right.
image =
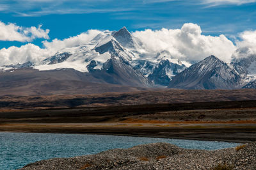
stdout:
{"type": "Polygon", "coordinates": [[[141,87],[167,86],[173,76],[186,68],[182,61],[166,51],[147,52],[143,43],[126,27],[104,31],[86,44],[61,49],[39,63],[10,65],[8,69],[24,66],[40,71],[73,68],[111,84],[141,87]]]}

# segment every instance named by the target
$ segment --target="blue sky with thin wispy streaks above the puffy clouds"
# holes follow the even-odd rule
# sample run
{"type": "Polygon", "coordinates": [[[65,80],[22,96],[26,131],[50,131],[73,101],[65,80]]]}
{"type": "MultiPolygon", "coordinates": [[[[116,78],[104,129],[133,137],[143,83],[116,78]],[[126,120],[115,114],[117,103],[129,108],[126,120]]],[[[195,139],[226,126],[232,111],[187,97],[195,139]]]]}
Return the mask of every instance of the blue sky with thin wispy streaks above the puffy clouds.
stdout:
{"type": "MultiPolygon", "coordinates": [[[[88,29],[129,31],[176,29],[184,23],[198,24],[204,35],[229,38],[256,29],[255,0],[2,0],[1,22],[22,27],[49,29],[49,39],[76,36],[88,29]]],[[[45,38],[35,38],[42,46],[45,38]]],[[[0,49],[27,42],[2,40],[0,49]]]]}

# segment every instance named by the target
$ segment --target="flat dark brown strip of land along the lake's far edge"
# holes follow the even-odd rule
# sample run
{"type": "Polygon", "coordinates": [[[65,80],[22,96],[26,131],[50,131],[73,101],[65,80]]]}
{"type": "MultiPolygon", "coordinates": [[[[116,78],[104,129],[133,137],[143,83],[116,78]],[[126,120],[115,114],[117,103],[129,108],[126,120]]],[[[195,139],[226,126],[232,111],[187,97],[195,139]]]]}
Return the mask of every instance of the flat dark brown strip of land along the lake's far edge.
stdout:
{"type": "Polygon", "coordinates": [[[95,135],[120,135],[134,137],[154,137],[168,139],[185,139],[196,141],[222,141],[228,143],[250,143],[256,141],[253,135],[256,128],[159,128],[159,127],[84,127],[84,128],[36,128],[27,127],[26,129],[12,127],[3,129],[0,126],[0,132],[17,133],[43,133],[43,134],[95,134],[95,135]],[[240,130],[240,132],[239,132],[240,130]],[[247,131],[247,132],[244,132],[247,131]],[[166,131],[164,133],[164,131],[166,131]],[[179,132],[178,132],[179,131],[179,132]],[[237,131],[234,133],[234,131],[237,131]]]}

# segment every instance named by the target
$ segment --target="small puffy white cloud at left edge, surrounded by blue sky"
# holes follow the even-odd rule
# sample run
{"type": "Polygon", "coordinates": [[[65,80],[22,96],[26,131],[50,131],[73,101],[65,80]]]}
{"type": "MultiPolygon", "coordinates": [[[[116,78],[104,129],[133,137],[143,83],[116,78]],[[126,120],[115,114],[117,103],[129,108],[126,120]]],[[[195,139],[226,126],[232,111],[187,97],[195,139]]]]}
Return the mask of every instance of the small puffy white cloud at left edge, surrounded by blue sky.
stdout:
{"type": "Polygon", "coordinates": [[[49,29],[38,27],[21,27],[13,23],[4,24],[0,21],[0,40],[31,42],[36,38],[49,39],[49,29]]]}

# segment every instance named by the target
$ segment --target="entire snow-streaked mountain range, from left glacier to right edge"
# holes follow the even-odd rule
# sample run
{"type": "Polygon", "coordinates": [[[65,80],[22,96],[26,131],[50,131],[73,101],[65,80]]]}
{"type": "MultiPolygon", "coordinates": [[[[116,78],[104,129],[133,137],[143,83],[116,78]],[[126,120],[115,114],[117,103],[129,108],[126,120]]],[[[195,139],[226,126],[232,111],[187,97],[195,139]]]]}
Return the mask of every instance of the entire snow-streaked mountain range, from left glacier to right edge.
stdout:
{"type": "Polygon", "coordinates": [[[0,69],[4,72],[24,67],[40,71],[73,68],[104,82],[128,86],[232,89],[252,81],[253,74],[256,75],[256,56],[234,59],[230,66],[209,56],[191,66],[167,50],[156,54],[147,51],[140,39],[122,27],[119,31],[102,31],[85,44],[61,49],[41,62],[2,66],[0,69]]]}

